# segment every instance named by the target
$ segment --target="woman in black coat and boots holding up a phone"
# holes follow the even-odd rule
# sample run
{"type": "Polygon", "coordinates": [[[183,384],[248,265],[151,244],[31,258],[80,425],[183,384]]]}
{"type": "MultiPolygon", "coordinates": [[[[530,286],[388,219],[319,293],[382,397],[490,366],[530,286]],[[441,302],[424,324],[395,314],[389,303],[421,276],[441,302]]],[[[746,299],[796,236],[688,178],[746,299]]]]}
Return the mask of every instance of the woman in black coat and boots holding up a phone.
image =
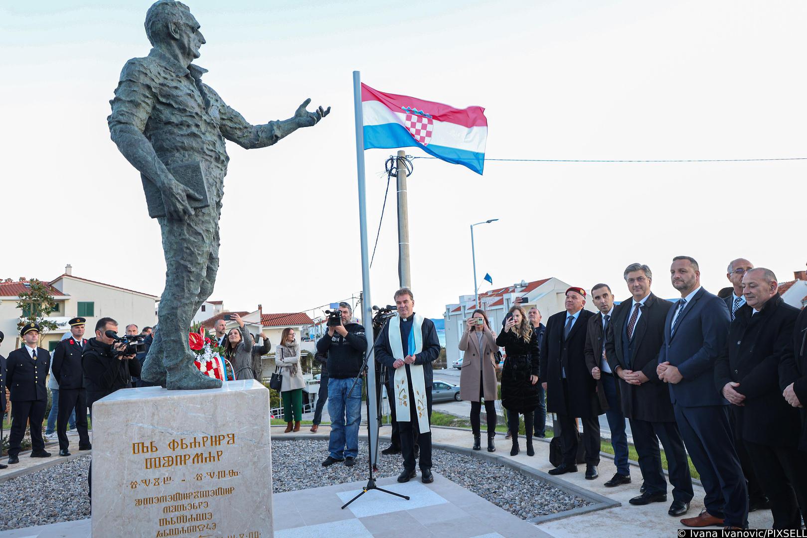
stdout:
{"type": "Polygon", "coordinates": [[[521,307],[512,307],[496,344],[504,347],[506,358],[502,369],[502,407],[508,410],[508,427],[512,432],[510,455],[518,451],[519,414],[524,415],[527,434],[527,456],[534,456],[533,411],[538,407],[538,369],[541,361],[537,334],[521,307]]]}

